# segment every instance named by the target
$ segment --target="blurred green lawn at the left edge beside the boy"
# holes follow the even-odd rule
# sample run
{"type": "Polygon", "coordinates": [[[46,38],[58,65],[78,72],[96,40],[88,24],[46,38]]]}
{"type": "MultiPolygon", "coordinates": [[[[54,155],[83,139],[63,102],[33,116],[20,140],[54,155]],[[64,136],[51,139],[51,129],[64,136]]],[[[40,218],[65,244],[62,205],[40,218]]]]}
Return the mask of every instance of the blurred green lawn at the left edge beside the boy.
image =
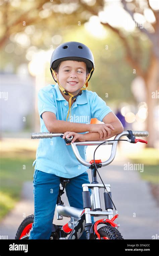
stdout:
{"type": "Polygon", "coordinates": [[[1,158],[0,220],[13,209],[20,199],[23,182],[33,180],[33,161],[33,158],[24,157],[1,158]]]}

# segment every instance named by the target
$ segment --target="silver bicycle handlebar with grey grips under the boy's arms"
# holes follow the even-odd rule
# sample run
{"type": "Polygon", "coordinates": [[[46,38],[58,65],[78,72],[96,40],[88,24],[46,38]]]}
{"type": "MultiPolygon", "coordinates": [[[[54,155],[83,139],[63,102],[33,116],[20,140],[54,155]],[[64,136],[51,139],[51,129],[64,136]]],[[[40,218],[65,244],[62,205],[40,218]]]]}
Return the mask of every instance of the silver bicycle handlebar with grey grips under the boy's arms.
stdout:
{"type": "MultiPolygon", "coordinates": [[[[133,135],[136,137],[148,137],[149,136],[148,131],[132,131],[132,132],[133,132],[133,135]]],[[[123,132],[117,134],[115,136],[114,140],[119,139],[122,136],[127,136],[127,135],[129,135],[129,132],[123,131],[123,132]]],[[[43,138],[53,138],[53,137],[61,137],[62,138],[63,133],[54,133],[54,132],[39,132],[39,133],[33,132],[33,133],[31,133],[32,139],[43,139],[43,138]]],[[[71,136],[70,138],[67,138],[67,141],[70,143],[72,138],[73,138],[73,136],[71,136]]],[[[102,145],[112,145],[112,150],[111,150],[111,155],[110,155],[109,159],[102,163],[102,167],[103,167],[103,166],[110,164],[114,160],[118,141],[109,141],[109,140],[95,140],[94,141],[94,140],[92,140],[92,141],[84,141],[84,142],[73,142],[73,143],[71,143],[71,147],[72,147],[72,150],[73,150],[77,160],[81,164],[90,167],[91,163],[85,161],[80,156],[77,146],[96,146],[96,145],[100,145],[104,141],[105,141],[105,143],[103,143],[102,145]]]]}

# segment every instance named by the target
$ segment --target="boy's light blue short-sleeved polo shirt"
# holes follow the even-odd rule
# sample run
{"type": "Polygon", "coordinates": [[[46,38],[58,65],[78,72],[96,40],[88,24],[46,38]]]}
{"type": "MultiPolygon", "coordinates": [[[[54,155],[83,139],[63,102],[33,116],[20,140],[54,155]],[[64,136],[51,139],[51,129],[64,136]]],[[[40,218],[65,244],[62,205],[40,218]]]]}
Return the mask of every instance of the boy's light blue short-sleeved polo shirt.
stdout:
{"type": "MultiPolygon", "coordinates": [[[[48,85],[38,92],[38,111],[40,115],[40,131],[48,132],[42,114],[45,111],[53,112],[57,120],[66,121],[69,103],[61,94],[58,84],[48,85]]],[[[96,92],[84,90],[81,96],[71,106],[71,116],[67,122],[90,124],[91,118],[97,118],[102,122],[103,118],[112,112],[104,100],[96,92]]],[[[60,133],[60,131],[59,131],[60,133]]],[[[84,134],[86,132],[81,132],[84,134]]],[[[77,146],[83,159],[86,160],[87,146],[77,146]]],[[[36,152],[36,160],[33,163],[35,169],[43,172],[53,173],[63,178],[73,178],[89,167],[82,165],[76,159],[71,145],[66,146],[61,137],[40,139],[36,152]]]]}

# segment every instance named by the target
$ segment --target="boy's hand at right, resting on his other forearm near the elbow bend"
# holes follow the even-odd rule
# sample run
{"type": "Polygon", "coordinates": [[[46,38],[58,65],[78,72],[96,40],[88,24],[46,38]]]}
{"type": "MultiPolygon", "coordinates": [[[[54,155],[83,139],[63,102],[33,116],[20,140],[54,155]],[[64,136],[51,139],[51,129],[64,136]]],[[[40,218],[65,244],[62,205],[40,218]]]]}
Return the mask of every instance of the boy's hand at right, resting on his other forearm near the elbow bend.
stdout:
{"type": "Polygon", "coordinates": [[[91,124],[90,125],[90,132],[100,133],[100,139],[106,139],[107,136],[110,136],[111,129],[115,130],[111,124],[91,124]]]}

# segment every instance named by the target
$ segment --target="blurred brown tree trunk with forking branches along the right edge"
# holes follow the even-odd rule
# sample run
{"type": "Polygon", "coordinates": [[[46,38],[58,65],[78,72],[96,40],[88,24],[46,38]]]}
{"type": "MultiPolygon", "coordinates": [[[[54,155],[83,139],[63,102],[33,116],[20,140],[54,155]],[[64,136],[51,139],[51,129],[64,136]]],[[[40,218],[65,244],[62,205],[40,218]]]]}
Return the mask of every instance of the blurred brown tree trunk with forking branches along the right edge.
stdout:
{"type": "MultiPolygon", "coordinates": [[[[133,33],[131,36],[133,37],[133,40],[137,44],[138,51],[134,53],[131,49],[131,45],[129,44],[126,36],[124,33],[122,33],[122,30],[120,28],[112,27],[109,23],[102,23],[103,26],[106,28],[111,29],[114,33],[118,35],[120,40],[123,42],[123,45],[125,47],[125,58],[126,61],[133,67],[133,69],[136,70],[137,74],[141,76],[145,81],[145,90],[147,95],[147,105],[148,105],[148,117],[147,117],[147,130],[149,131],[149,145],[148,147],[154,147],[154,142],[156,139],[156,134],[154,133],[154,117],[153,117],[153,110],[157,103],[157,97],[153,98],[152,94],[153,92],[156,92],[158,89],[158,67],[159,67],[159,51],[158,51],[158,41],[159,41],[159,11],[154,10],[149,1],[145,0],[144,7],[141,8],[140,2],[141,1],[131,1],[131,3],[134,4],[134,11],[131,11],[128,8],[128,3],[125,0],[121,1],[123,4],[123,8],[130,14],[131,18],[134,19],[135,10],[140,10],[141,14],[144,14],[144,10],[147,8],[151,10],[154,13],[155,16],[155,22],[151,24],[153,27],[152,32],[148,31],[147,29],[143,28],[141,29],[140,26],[137,28],[140,29],[141,33],[144,33],[148,36],[149,40],[152,42],[151,44],[151,50],[150,50],[150,57],[149,57],[149,66],[146,70],[141,65],[141,60],[138,58],[138,53],[140,52],[140,45],[138,41],[136,40],[133,33]]],[[[86,6],[88,9],[88,7],[86,6]]],[[[89,7],[90,9],[90,7],[89,7]]],[[[90,12],[93,15],[98,15],[98,12],[95,8],[91,8],[90,12]]],[[[150,24],[149,24],[150,25],[150,24]]]]}

